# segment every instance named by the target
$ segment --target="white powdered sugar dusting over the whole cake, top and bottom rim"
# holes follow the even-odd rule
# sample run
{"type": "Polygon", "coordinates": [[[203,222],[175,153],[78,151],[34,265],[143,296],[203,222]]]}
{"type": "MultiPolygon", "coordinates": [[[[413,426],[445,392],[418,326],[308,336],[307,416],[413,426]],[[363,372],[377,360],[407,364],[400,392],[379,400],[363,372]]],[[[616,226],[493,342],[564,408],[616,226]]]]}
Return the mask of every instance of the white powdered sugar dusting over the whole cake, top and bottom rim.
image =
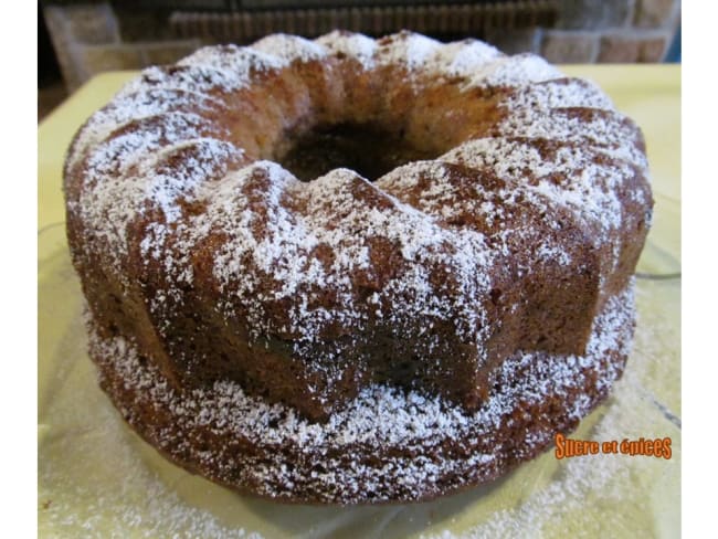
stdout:
{"type": "MultiPolygon", "coordinates": [[[[293,76],[306,74],[295,70],[293,76]]],[[[277,93],[273,99],[279,96],[277,93]]],[[[256,99],[249,108],[262,105],[260,97],[256,99]]],[[[247,113],[247,118],[252,114],[247,113]]],[[[289,128],[292,121],[304,120],[307,118],[283,117],[278,124],[289,128]]],[[[492,328],[501,324],[488,315],[492,279],[510,254],[511,241],[529,237],[537,261],[551,261],[564,268],[578,264],[571,245],[548,236],[534,242],[536,234],[525,235],[530,231],[511,221],[516,214],[540,215],[549,231],[562,225],[555,216],[558,211],[571,215],[576,221],[572,224],[578,223],[593,242],[589,249],[602,257],[603,286],[616,273],[623,231],[633,231],[641,219],[647,219],[644,210],[651,203],[647,188],[633,189],[630,183],[636,177],[644,181],[646,175],[640,131],[613,110],[595,86],[562,77],[538,56],[508,57],[476,41],[442,45],[408,32],[380,41],[348,32],[332,32],[315,42],[275,35],[261,40],[255,47],[205,47],[176,66],[145,70],[81,130],[66,170],[71,184],[67,209],[82,224],[84,242],[74,249],[96,255],[103,271],[118,276],[126,288],[130,284],[123,265],[129,253],[139,253],[142,270],[157,282],[150,287],[151,297],[140,299],[159,320],[157,329],[162,338],[167,338],[171,310],[182,304],[199,275],[203,286],[215,287],[213,313],[245,325],[249,346],[262,339],[283,339],[291,344],[293,358],[328,366],[323,372],[328,384],[342,376],[339,367],[332,367],[342,364],[342,351],[331,349],[315,358],[309,345],[337,331],[360,339],[367,328],[382,325],[397,341],[425,345],[416,360],[430,361],[437,346],[432,340],[437,335],[432,332],[433,325],[441,323],[445,334],[471,350],[473,367],[482,368],[488,359],[492,328]],[[296,63],[326,64],[340,76],[342,70],[335,67],[348,66],[353,72],[357,62],[369,78],[387,65],[400,66],[406,72],[401,84],[410,85],[402,91],[420,92],[426,81],[460,77],[457,87],[466,96],[487,95],[489,101],[497,101],[499,119],[483,126],[483,138],[465,140],[436,161],[399,168],[376,183],[347,169],[300,182],[275,162],[249,158],[243,147],[251,144],[250,135],[255,135],[263,148],[260,154],[272,155],[272,148],[264,149],[261,139],[281,140],[282,135],[237,136],[242,121],[237,120],[240,128],[236,121],[226,126],[218,121],[234,112],[235,105],[244,104],[233,99],[249,99],[246,89],[255,82],[268,85],[273,77],[281,80],[284,70],[296,63]],[[452,166],[490,176],[490,181],[471,189],[458,186],[452,179],[452,166]],[[406,195],[425,180],[420,200],[406,195]],[[627,203],[635,203],[634,209],[626,210],[627,203]],[[464,218],[478,224],[462,225],[464,218]],[[196,252],[209,253],[209,264],[202,258],[198,268],[196,252]],[[426,323],[419,337],[418,320],[426,323]]],[[[519,270],[530,272],[530,267],[519,270]]],[[[621,311],[614,307],[615,313],[621,311]]],[[[613,327],[605,316],[601,324],[613,327]]],[[[627,317],[625,314],[624,323],[627,317]]],[[[590,351],[589,359],[568,358],[570,369],[562,360],[547,362],[549,370],[538,378],[550,374],[551,381],[542,383],[559,389],[563,380],[570,384],[576,374],[571,369],[590,366],[591,358],[623,346],[623,339],[601,331],[600,342],[592,345],[595,353],[590,351]],[[551,366],[558,370],[551,371],[551,366]]],[[[347,346],[359,345],[356,339],[349,339],[347,346]]],[[[131,342],[116,339],[112,344],[97,341],[96,346],[102,356],[125,357],[135,369],[138,360],[131,359],[131,342]]],[[[500,358],[498,373],[510,377],[535,359],[531,353],[505,362],[500,358]]],[[[312,447],[318,450],[328,447],[321,445],[325,442],[371,445],[373,441],[366,433],[377,411],[401,418],[398,431],[383,433],[395,444],[427,447],[429,440],[435,437],[435,425],[442,425],[444,436],[452,440],[462,436],[462,429],[469,424],[476,432],[490,432],[516,398],[506,389],[509,393],[497,394],[488,409],[482,409],[483,415],[469,418],[455,415],[439,397],[406,397],[386,387],[359,388],[355,404],[360,408],[352,409],[353,419],[336,415],[330,424],[339,423],[327,431],[303,423],[279,404],[271,406],[249,399],[228,381],[194,394],[193,400],[177,401],[169,389],[156,383],[151,368],[146,369],[146,377],[136,380],[137,389],[151,390],[160,402],[172,406],[173,414],[187,421],[190,416],[186,414],[190,414],[194,423],[188,425],[192,427],[200,420],[212,429],[233,424],[239,420],[208,412],[229,406],[236,410],[237,418],[253,418],[246,432],[241,425],[233,426],[243,436],[257,432],[256,421],[278,422],[283,425],[279,431],[272,427],[263,432],[267,443],[296,445],[314,440],[318,445],[312,447]],[[198,403],[203,404],[198,408],[198,403]],[[405,414],[406,406],[422,412],[405,414]]],[[[124,374],[131,379],[129,370],[124,374]]],[[[614,371],[605,374],[605,384],[615,376],[614,371]]],[[[538,399],[547,388],[520,389],[538,399]]],[[[319,395],[323,398],[326,400],[319,395]]],[[[574,399],[571,416],[581,416],[590,404],[588,399],[574,399]]],[[[180,448],[187,443],[175,442],[180,448]]],[[[469,461],[485,466],[481,469],[487,476],[495,469],[492,466],[498,466],[483,451],[475,452],[469,461]]],[[[331,466],[313,478],[316,485],[335,485],[342,473],[339,468],[380,484],[382,474],[403,467],[405,493],[416,493],[441,476],[429,457],[384,462],[381,469],[362,462],[347,463],[338,456],[327,456],[326,462],[331,466]]],[[[287,463],[291,461],[274,463],[274,467],[251,463],[250,467],[257,466],[257,473],[265,474],[268,482],[263,488],[267,495],[281,495],[295,480],[287,463]]],[[[445,457],[450,468],[458,469],[465,463],[445,457]]],[[[360,496],[359,489],[356,482],[348,484],[347,499],[360,496]]]]}

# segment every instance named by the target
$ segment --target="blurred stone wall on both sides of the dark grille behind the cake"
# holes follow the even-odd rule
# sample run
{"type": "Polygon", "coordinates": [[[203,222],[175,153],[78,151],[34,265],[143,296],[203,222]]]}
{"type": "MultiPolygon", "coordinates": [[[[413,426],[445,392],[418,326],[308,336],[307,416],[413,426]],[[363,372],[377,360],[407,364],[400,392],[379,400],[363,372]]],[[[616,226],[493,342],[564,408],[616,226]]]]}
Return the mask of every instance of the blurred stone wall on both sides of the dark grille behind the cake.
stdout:
{"type": "MultiPolygon", "coordinates": [[[[469,29],[467,34],[482,38],[509,54],[535,52],[553,63],[661,62],[680,22],[680,0],[546,0],[538,3],[555,10],[556,17],[550,18],[550,22],[539,19],[534,25],[509,29],[484,23],[469,29]]],[[[202,32],[201,25],[194,34],[178,31],[172,21],[181,20],[178,18],[181,13],[176,11],[141,11],[113,6],[108,1],[49,1],[43,4],[70,91],[103,71],[173,63],[202,44],[217,41],[212,40],[211,31],[202,32]]]]}

